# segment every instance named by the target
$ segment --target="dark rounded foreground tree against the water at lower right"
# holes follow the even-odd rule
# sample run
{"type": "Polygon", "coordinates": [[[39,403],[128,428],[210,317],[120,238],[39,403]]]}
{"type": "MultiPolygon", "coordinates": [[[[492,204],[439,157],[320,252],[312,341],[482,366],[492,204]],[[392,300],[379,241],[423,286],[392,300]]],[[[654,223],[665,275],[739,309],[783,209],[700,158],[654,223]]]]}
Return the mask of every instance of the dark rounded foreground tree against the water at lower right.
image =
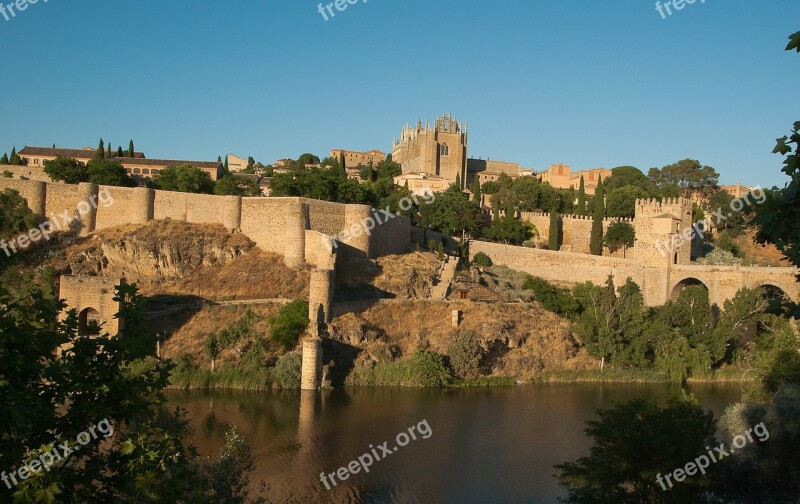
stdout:
{"type": "Polygon", "coordinates": [[[597,415],[599,420],[586,422],[586,435],[594,441],[590,454],[556,466],[558,482],[569,493],[564,502],[709,502],[707,478],[688,477],[672,485],[664,479],[716,445],[714,416],[693,398],[673,399],[666,408],[634,399],[597,415]]]}

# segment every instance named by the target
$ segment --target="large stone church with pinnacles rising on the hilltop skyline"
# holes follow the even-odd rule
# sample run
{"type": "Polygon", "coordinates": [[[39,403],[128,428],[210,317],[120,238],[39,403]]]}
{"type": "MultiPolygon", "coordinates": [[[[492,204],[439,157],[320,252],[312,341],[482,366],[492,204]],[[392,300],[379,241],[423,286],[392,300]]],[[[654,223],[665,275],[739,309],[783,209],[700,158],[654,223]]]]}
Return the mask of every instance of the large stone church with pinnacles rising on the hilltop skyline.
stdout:
{"type": "Polygon", "coordinates": [[[433,126],[418,121],[406,127],[392,144],[392,160],[403,167],[403,173],[425,173],[455,182],[462,189],[467,175],[466,129],[451,115],[442,115],[433,126]]]}

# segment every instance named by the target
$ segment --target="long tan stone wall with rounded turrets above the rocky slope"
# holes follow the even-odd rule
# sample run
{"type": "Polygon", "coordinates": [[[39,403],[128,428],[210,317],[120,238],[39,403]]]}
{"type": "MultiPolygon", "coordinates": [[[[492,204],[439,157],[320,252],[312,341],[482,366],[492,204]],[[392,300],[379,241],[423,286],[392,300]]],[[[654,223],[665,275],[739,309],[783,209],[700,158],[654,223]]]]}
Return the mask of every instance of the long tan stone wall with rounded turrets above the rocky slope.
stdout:
{"type": "Polygon", "coordinates": [[[283,255],[292,268],[302,268],[307,257],[311,257],[312,264],[318,264],[323,259],[317,255],[326,257],[331,253],[330,247],[325,250],[322,236],[338,236],[344,230],[350,230],[352,235],[338,247],[345,265],[404,252],[411,247],[408,219],[387,219],[365,205],[0,178],[0,190],[3,189],[19,192],[34,213],[56,223],[64,220],[66,212],[68,219],[74,219],[71,226],[82,236],[97,229],[144,224],[153,219],[222,224],[230,231],[241,230],[263,250],[283,255]],[[364,223],[377,215],[385,223],[376,225],[367,234],[364,223]],[[307,231],[319,233],[308,244],[307,231]],[[321,250],[317,250],[320,247],[321,250]]]}

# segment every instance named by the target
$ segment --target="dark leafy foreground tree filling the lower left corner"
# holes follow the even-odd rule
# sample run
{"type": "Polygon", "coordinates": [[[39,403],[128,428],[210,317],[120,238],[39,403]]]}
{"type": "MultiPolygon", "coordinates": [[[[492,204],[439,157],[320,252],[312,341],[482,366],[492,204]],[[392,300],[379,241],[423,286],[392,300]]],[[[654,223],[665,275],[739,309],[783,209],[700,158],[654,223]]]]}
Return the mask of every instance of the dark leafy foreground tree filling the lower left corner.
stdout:
{"type": "MultiPolygon", "coordinates": [[[[132,292],[117,291],[122,312],[141,302],[132,292]]],[[[18,412],[0,417],[0,465],[52,457],[53,443],[75,440],[89,426],[98,434],[80,451],[59,447],[66,462],[57,470],[13,489],[0,485],[3,502],[245,502],[246,445],[226,444],[212,461],[184,444],[185,418],[161,407],[172,364],[135,359],[123,345],[146,338],[141,329],[81,337],[77,313],[59,320],[65,305],[39,290],[20,298],[0,288],[0,306],[0,399],[18,412]]]]}

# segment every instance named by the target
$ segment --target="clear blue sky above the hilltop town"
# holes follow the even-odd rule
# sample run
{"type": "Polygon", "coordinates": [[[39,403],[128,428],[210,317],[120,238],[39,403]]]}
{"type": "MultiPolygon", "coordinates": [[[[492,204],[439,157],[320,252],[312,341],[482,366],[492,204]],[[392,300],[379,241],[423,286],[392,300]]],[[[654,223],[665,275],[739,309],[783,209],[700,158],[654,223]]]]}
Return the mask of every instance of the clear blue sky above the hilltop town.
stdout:
{"type": "Polygon", "coordinates": [[[473,157],[645,172],[691,157],[722,183],[783,185],[770,152],[800,120],[796,0],[667,19],[651,0],[369,0],[328,21],[313,0],[43,2],[0,17],[0,151],[103,136],[270,163],[388,151],[449,112],[473,157]]]}

